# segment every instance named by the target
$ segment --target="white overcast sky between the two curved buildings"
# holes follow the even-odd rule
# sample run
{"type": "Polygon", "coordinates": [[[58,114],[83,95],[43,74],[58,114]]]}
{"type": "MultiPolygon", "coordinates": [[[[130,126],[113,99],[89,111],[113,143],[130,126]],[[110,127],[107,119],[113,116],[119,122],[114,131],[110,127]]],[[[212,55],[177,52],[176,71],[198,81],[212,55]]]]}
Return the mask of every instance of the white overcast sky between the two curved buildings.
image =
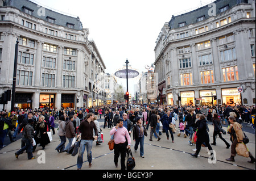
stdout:
{"type": "MultiPolygon", "coordinates": [[[[31,0],[46,8],[79,16],[89,28],[106,65],[114,74],[129,60],[139,73],[155,61],[155,41],[172,15],[207,5],[210,0],[31,0]]],[[[119,79],[118,79],[119,80],[119,79]]],[[[129,80],[134,82],[135,80],[129,80]]],[[[129,87],[130,87],[129,83],[129,87]]],[[[126,83],[122,85],[126,87],[126,83]]],[[[125,89],[126,91],[126,89],[125,89]]]]}

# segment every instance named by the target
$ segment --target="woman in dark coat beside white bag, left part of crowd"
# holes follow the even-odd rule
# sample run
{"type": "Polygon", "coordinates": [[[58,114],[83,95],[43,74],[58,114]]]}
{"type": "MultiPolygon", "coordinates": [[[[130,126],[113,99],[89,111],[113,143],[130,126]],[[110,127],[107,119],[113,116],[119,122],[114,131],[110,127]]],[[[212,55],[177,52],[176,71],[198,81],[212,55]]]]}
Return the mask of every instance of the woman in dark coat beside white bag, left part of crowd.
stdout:
{"type": "MultiPolygon", "coordinates": [[[[44,121],[44,116],[40,116],[38,124],[36,125],[36,128],[35,128],[34,138],[35,138],[36,145],[40,144],[43,147],[43,149],[50,142],[47,131],[48,131],[48,126],[46,121],[44,121]]],[[[36,146],[34,146],[33,150],[35,149],[36,149],[36,146]]]]}

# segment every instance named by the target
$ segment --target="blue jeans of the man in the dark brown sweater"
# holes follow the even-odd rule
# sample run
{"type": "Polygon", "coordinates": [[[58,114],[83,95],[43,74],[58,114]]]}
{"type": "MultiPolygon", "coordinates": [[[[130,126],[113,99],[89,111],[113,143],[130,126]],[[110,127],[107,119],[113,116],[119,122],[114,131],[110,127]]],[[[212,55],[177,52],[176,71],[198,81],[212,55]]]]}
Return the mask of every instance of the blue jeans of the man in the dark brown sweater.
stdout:
{"type": "Polygon", "coordinates": [[[77,157],[77,169],[81,169],[82,162],[84,159],[84,151],[86,146],[87,151],[87,159],[89,163],[92,163],[92,143],[93,140],[81,140],[80,141],[80,149],[79,149],[79,155],[77,157]]]}

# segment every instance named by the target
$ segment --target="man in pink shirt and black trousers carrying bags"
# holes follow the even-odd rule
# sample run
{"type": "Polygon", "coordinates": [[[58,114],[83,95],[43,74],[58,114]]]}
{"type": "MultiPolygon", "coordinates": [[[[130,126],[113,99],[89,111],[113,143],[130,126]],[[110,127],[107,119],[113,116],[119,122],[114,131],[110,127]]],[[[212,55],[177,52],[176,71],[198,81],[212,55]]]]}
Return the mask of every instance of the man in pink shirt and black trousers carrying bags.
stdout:
{"type": "Polygon", "coordinates": [[[117,125],[110,131],[110,135],[114,134],[114,163],[118,166],[119,154],[121,154],[121,170],[125,170],[126,149],[131,148],[131,138],[125,127],[123,127],[123,120],[117,120],[117,125]],[[128,145],[126,147],[126,139],[128,145]]]}

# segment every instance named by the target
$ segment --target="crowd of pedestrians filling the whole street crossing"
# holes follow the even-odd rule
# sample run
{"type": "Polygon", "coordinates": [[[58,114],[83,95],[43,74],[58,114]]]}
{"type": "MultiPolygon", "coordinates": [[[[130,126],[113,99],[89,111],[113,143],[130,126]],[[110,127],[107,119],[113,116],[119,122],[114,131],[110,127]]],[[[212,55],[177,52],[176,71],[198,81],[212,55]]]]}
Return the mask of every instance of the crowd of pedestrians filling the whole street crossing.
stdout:
{"type": "MultiPolygon", "coordinates": [[[[176,128],[179,129],[177,136],[183,133],[184,138],[189,137],[189,145],[196,144],[193,149],[197,157],[201,146],[206,146],[209,151],[210,145],[216,145],[217,136],[225,142],[226,149],[230,144],[222,137],[222,125],[229,124],[228,133],[231,141],[231,157],[227,161],[234,161],[236,156],[236,144],[241,142],[241,123],[250,125],[255,130],[255,123],[251,119],[255,116],[255,106],[172,106],[172,105],[104,105],[91,108],[61,108],[60,110],[16,110],[13,112],[2,111],[0,114],[0,148],[3,146],[6,135],[10,141],[16,140],[17,134],[22,132],[22,147],[15,153],[15,157],[27,151],[28,159],[34,159],[32,152],[36,146],[46,148],[51,142],[51,134],[55,134],[55,121],[58,123],[57,134],[60,137],[60,144],[56,147],[59,153],[69,153],[73,140],[81,138],[80,150],[77,157],[77,169],[81,169],[83,154],[86,148],[89,167],[92,166],[92,145],[100,145],[98,138],[101,136],[101,128],[97,119],[104,119],[103,129],[108,127],[110,135],[114,137],[114,165],[118,167],[118,158],[121,155],[121,169],[125,169],[125,156],[127,149],[130,149],[131,138],[135,141],[134,151],[139,152],[144,158],[144,136],[149,130],[150,141],[153,137],[157,141],[166,133],[169,140],[174,142],[176,128]],[[208,124],[214,125],[213,142],[210,144],[208,124]],[[52,133],[51,133],[52,131],[52,133]],[[196,143],[193,136],[197,136],[196,143]],[[132,136],[131,136],[132,135],[132,136]],[[154,136],[153,136],[154,135],[154,136]],[[239,137],[238,137],[239,135],[239,137]],[[68,144],[66,141],[68,140],[68,144]]],[[[243,135],[242,135],[243,137],[243,135]]],[[[250,163],[255,158],[250,153],[250,163]]]]}

